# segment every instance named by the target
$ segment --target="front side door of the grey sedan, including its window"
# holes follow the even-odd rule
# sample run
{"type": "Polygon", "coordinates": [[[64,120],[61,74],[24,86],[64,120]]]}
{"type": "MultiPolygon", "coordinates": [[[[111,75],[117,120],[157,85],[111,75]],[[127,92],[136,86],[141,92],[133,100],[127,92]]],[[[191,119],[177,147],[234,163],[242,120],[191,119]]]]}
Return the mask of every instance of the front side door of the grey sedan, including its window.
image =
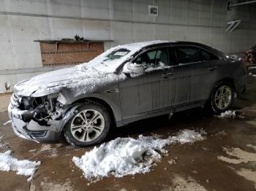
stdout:
{"type": "Polygon", "coordinates": [[[165,70],[170,67],[168,54],[167,47],[143,52],[133,63],[143,66],[145,73],[138,77],[124,74],[127,77],[119,80],[124,124],[155,115],[165,107],[165,70]]]}

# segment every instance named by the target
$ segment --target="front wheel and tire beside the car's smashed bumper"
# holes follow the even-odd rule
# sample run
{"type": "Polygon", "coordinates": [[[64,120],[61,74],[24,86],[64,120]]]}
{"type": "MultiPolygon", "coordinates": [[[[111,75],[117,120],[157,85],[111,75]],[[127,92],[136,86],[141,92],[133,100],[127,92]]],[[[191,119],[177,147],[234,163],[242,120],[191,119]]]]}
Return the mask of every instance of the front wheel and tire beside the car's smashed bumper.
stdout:
{"type": "Polygon", "coordinates": [[[64,127],[64,136],[69,144],[87,147],[100,143],[108,136],[111,122],[104,106],[97,101],[86,101],[77,111],[64,127]]]}

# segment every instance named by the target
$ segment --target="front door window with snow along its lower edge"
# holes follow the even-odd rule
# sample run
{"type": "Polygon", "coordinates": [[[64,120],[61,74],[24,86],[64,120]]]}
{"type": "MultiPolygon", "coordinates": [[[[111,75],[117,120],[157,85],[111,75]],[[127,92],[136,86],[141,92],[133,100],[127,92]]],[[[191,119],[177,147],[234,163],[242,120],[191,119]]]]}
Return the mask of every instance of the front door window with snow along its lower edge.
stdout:
{"type": "Polygon", "coordinates": [[[134,63],[143,64],[144,68],[158,68],[169,66],[169,55],[167,48],[161,48],[145,52],[137,58],[134,63]]]}

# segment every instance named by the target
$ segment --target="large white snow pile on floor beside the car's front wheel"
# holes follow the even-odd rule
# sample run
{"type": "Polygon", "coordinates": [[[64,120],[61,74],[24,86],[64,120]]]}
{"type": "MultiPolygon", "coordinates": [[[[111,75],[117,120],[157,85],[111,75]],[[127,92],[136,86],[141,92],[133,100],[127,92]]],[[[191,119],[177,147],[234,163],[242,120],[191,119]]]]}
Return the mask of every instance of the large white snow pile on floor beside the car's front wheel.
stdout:
{"type": "Polygon", "coordinates": [[[138,139],[117,138],[94,147],[82,157],[72,161],[83,171],[86,179],[97,181],[112,174],[116,177],[147,173],[154,162],[161,159],[161,153],[168,144],[185,144],[203,140],[204,131],[181,130],[177,136],[159,139],[159,136],[138,136],[138,139]]]}

